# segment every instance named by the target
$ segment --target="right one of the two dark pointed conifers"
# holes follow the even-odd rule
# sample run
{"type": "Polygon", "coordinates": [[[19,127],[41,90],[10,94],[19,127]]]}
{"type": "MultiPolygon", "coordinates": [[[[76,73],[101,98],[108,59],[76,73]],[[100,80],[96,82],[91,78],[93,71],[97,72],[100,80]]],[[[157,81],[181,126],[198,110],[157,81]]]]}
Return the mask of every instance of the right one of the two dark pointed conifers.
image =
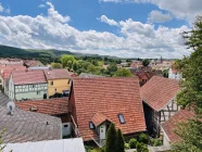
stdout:
{"type": "Polygon", "coordinates": [[[117,135],[116,135],[116,150],[115,150],[115,152],[124,152],[124,151],[125,151],[124,137],[122,135],[122,130],[118,129],[117,135]]]}

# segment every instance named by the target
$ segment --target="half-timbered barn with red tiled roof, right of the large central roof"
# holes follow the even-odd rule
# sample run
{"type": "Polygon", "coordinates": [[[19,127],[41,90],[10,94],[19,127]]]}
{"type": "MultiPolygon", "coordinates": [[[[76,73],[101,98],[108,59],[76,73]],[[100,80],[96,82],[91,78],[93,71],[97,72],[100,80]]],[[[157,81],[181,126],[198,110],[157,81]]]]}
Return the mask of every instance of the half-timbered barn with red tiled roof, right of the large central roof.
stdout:
{"type": "Polygon", "coordinates": [[[180,109],[175,101],[179,90],[177,80],[157,76],[141,87],[147,130],[151,136],[159,137],[161,124],[180,109]]]}

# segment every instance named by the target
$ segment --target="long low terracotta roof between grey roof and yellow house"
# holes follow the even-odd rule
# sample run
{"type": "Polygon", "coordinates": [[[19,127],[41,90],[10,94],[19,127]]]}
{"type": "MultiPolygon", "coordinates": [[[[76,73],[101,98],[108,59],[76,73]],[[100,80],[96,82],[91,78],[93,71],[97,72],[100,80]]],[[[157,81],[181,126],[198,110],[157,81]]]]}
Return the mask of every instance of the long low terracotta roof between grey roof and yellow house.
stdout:
{"type": "Polygon", "coordinates": [[[68,102],[67,99],[64,98],[35,101],[30,100],[15,103],[22,110],[31,111],[31,109],[36,109],[37,113],[48,115],[60,115],[68,113],[68,102]]]}

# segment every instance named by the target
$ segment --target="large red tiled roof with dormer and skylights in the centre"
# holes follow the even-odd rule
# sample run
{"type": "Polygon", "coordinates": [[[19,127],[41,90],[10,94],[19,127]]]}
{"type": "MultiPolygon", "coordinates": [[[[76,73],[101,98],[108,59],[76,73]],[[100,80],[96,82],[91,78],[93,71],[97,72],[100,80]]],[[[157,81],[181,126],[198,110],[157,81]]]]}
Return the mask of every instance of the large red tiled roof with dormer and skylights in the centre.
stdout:
{"type": "Polygon", "coordinates": [[[138,78],[75,78],[72,92],[78,130],[85,141],[96,136],[89,129],[91,119],[100,124],[108,117],[124,135],[146,130],[138,78]],[[125,124],[119,123],[118,114],[123,114],[125,124]]]}

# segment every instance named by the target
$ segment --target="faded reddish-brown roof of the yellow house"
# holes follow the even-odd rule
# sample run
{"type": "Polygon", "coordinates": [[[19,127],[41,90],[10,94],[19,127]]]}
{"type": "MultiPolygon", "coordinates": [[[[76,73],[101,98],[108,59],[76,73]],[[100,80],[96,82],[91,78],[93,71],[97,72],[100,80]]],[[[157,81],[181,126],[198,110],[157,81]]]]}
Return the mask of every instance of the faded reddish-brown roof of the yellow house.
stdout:
{"type": "Polygon", "coordinates": [[[67,69],[45,69],[45,75],[48,80],[71,78],[67,69]]]}

